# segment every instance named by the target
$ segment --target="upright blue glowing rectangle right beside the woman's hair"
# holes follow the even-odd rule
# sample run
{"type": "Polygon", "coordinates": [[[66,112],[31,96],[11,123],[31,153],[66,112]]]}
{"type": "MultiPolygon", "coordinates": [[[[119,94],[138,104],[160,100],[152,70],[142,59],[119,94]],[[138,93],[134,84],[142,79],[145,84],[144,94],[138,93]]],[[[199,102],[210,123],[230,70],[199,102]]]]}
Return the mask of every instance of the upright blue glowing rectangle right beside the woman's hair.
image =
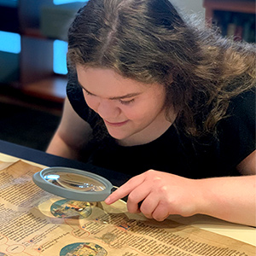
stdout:
{"type": "Polygon", "coordinates": [[[67,42],[54,41],[54,72],[67,74],[67,42]]]}

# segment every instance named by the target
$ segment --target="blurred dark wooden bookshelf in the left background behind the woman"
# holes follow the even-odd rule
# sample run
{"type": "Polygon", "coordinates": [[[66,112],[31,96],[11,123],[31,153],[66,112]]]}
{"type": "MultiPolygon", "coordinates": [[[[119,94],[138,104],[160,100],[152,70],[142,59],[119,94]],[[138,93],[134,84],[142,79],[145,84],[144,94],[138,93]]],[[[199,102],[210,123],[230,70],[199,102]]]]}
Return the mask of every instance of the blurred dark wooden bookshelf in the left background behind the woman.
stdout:
{"type": "MultiPolygon", "coordinates": [[[[0,30],[20,34],[21,44],[20,53],[15,55],[15,65],[14,54],[9,54],[3,60],[3,67],[8,64],[11,72],[9,75],[7,68],[3,70],[6,75],[2,80],[0,76],[0,86],[9,86],[17,90],[17,95],[20,92],[20,95],[34,97],[38,101],[63,102],[67,77],[54,71],[54,41],[64,40],[60,38],[59,26],[65,28],[63,33],[66,34],[66,23],[84,3],[55,6],[52,0],[19,0],[14,7],[6,8],[0,3],[0,30]],[[48,26],[44,25],[44,30],[43,17],[49,23],[48,26]],[[51,35],[46,33],[47,29],[51,35]]],[[[1,57],[3,59],[5,55],[1,57]]]]}

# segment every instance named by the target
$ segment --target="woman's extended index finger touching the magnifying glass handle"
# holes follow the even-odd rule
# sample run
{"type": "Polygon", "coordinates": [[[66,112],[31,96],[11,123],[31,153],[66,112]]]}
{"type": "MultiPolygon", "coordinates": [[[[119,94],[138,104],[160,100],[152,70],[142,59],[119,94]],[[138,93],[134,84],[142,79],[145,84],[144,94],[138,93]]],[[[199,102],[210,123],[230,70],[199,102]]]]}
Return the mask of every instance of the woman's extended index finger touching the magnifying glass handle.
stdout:
{"type": "Polygon", "coordinates": [[[129,195],[131,191],[137,186],[139,186],[144,181],[143,174],[137,175],[136,177],[131,177],[131,179],[119,187],[119,189],[115,190],[108,198],[105,200],[105,203],[110,205],[113,204],[115,201],[129,195]]]}

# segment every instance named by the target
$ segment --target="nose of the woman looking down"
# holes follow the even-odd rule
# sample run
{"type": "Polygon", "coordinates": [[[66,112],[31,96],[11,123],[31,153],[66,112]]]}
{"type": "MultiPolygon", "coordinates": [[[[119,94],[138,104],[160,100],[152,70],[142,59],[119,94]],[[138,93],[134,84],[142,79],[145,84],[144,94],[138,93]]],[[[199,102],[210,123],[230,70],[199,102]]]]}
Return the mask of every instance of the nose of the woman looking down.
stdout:
{"type": "Polygon", "coordinates": [[[112,100],[102,99],[97,106],[96,111],[102,119],[112,120],[117,118],[120,114],[120,108],[118,108],[112,100]]]}

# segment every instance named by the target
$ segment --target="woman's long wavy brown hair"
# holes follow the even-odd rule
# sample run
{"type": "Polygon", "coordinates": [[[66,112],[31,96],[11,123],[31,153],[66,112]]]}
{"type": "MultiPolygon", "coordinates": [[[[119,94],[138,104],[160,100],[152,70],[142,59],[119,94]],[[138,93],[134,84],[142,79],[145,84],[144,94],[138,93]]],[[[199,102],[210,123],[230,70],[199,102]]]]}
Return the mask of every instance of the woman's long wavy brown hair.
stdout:
{"type": "Polygon", "coordinates": [[[90,0],[68,33],[69,68],[112,68],[166,87],[166,117],[192,137],[214,134],[230,98],[255,88],[254,44],[181,17],[168,0],[90,0]]]}

